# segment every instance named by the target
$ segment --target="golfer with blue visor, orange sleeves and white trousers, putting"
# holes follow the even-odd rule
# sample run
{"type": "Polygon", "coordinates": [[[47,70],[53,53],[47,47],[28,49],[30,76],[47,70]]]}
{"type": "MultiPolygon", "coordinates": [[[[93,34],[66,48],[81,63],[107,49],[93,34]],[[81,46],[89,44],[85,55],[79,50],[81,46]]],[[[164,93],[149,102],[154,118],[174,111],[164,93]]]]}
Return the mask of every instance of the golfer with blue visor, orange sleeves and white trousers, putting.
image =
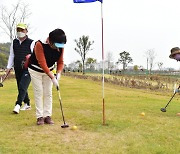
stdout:
{"type": "Polygon", "coordinates": [[[37,41],[30,58],[29,73],[34,90],[37,125],[54,124],[52,116],[52,85],[59,88],[58,81],[64,67],[63,54],[66,35],[62,29],[49,33],[46,43],[37,41]],[[56,76],[52,70],[57,64],[56,76]]]}

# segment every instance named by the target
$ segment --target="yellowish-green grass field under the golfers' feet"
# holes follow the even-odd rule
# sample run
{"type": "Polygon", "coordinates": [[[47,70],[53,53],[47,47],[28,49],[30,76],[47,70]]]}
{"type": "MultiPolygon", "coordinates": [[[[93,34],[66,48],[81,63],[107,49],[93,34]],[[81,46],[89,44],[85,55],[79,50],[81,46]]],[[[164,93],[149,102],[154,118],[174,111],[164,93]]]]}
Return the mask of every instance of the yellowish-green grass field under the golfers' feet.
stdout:
{"type": "Polygon", "coordinates": [[[160,111],[172,93],[105,84],[106,124],[102,125],[102,84],[63,76],[61,96],[65,119],[62,129],[58,94],[53,89],[55,125],[36,125],[32,110],[12,113],[17,90],[14,79],[0,88],[0,154],[179,154],[180,100],[177,95],[160,111]],[[140,113],[145,112],[145,116],[140,113]],[[71,130],[76,125],[77,130],[71,130]]]}

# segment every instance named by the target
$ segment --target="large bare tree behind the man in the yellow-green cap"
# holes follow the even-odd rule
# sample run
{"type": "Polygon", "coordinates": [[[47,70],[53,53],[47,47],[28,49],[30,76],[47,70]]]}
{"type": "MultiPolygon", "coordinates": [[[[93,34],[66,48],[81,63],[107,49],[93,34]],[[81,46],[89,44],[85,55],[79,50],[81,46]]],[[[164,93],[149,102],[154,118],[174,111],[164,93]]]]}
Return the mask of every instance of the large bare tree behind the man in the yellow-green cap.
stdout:
{"type": "Polygon", "coordinates": [[[0,6],[0,28],[3,32],[9,36],[10,42],[16,36],[16,25],[30,16],[28,9],[29,5],[21,3],[19,0],[17,4],[12,5],[12,9],[9,11],[5,6],[0,6]]]}

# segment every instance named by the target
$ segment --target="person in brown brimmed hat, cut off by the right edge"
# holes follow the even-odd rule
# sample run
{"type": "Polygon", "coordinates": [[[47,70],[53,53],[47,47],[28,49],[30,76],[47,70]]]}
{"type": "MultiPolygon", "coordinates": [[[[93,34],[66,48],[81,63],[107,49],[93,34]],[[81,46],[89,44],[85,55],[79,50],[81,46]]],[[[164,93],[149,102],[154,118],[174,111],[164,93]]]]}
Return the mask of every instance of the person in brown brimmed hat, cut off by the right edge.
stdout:
{"type": "MultiPolygon", "coordinates": [[[[169,58],[171,59],[175,59],[178,61],[180,61],[180,48],[179,47],[174,47],[171,49],[171,54],[169,55],[169,58]]],[[[176,89],[175,92],[180,93],[179,89],[176,89]]],[[[177,116],[180,116],[180,112],[177,113],[177,116]]]]}

